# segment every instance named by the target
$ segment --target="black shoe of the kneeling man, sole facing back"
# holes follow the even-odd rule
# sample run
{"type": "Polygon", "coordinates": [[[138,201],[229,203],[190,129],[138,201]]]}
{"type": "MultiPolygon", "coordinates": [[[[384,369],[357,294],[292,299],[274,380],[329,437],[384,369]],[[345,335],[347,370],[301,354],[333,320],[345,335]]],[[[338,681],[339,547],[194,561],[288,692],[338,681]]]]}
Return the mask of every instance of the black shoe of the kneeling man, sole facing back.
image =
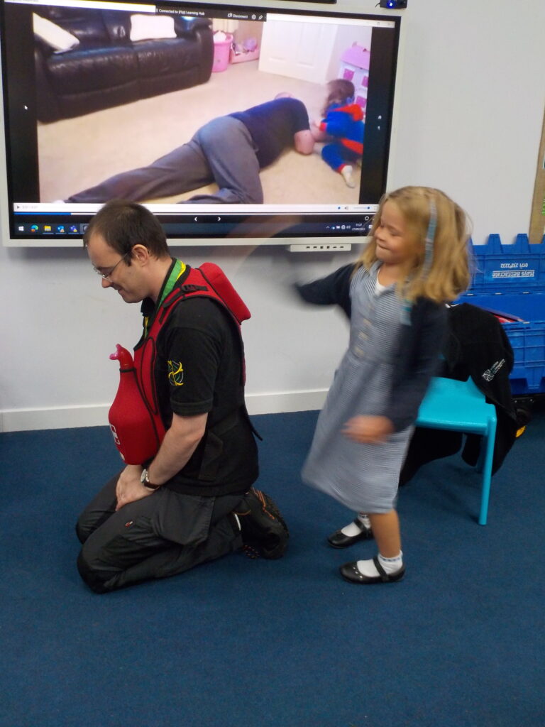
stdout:
{"type": "Polygon", "coordinates": [[[288,527],[272,497],[251,487],[235,510],[241,523],[244,547],[263,558],[282,558],[288,545],[288,527]]]}

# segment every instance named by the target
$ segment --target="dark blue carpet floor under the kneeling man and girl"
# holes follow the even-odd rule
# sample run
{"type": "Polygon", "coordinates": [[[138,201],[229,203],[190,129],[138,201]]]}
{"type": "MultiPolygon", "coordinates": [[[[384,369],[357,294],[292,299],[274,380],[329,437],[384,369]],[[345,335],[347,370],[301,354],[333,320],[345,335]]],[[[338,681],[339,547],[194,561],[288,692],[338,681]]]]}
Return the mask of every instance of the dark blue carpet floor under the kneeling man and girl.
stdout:
{"type": "Polygon", "coordinates": [[[0,435],[0,726],[543,726],[545,415],[494,476],[488,526],[459,455],[401,489],[407,575],[374,587],[337,572],[373,542],[329,548],[351,513],[299,480],[315,418],[254,417],[285,558],[109,595],[80,582],[73,534],[118,469],[109,430],[0,435]]]}

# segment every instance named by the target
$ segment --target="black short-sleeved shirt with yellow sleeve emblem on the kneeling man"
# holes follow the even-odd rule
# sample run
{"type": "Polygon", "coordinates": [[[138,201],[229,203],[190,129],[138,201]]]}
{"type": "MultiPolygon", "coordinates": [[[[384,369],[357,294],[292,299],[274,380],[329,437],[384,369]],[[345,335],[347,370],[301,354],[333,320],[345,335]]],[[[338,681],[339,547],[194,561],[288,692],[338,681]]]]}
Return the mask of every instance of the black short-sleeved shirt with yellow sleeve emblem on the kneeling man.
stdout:
{"type": "Polygon", "coordinates": [[[176,304],[157,340],[163,422],[208,413],[206,433],[166,486],[185,494],[245,492],[257,479],[257,445],[244,407],[243,351],[235,322],[206,297],[176,304]]]}

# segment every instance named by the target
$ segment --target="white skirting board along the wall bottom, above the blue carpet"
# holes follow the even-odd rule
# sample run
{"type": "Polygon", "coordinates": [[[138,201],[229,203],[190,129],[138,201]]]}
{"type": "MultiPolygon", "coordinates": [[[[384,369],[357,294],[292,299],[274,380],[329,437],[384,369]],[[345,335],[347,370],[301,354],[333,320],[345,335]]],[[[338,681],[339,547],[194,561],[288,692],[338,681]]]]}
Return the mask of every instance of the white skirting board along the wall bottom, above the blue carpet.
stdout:
{"type": "MultiPolygon", "coordinates": [[[[248,394],[246,406],[250,414],[310,411],[323,406],[326,393],[326,390],[314,390],[248,394]]],[[[109,404],[84,404],[50,409],[6,409],[0,411],[0,432],[103,427],[108,425],[109,408],[109,404]]]]}

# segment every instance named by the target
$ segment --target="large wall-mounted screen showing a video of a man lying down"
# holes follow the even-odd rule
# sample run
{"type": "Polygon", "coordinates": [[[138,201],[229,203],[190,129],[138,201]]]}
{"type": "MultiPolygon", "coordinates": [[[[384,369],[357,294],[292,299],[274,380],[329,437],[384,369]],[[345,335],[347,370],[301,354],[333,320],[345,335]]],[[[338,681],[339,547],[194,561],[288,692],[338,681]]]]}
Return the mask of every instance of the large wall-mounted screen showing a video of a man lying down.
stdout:
{"type": "Polygon", "coordinates": [[[285,6],[6,0],[4,244],[76,244],[114,197],[179,244],[364,236],[400,18],[285,6]]]}

